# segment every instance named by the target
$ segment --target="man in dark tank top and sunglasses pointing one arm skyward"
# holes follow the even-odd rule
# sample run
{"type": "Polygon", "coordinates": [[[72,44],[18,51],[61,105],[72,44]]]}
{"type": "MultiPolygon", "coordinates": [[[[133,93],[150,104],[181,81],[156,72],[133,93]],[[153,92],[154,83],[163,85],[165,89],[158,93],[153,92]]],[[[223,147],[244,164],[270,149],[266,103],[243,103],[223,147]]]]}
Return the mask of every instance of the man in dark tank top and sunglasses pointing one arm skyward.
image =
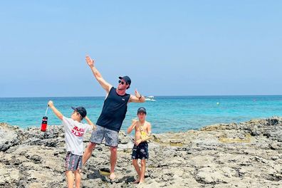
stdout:
{"type": "Polygon", "coordinates": [[[125,119],[128,103],[144,103],[145,97],[135,90],[135,95],[125,93],[130,88],[131,80],[125,75],[119,77],[117,88],[105,81],[100,72],[95,68],[94,61],[86,56],[88,66],[98,83],[106,91],[107,95],[104,101],[103,110],[96,122],[97,128],[92,132],[88,147],[83,154],[83,165],[92,155],[97,144],[100,144],[105,138],[105,145],[110,146],[110,179],[115,179],[115,164],[117,163],[117,144],[118,132],[125,119]]]}

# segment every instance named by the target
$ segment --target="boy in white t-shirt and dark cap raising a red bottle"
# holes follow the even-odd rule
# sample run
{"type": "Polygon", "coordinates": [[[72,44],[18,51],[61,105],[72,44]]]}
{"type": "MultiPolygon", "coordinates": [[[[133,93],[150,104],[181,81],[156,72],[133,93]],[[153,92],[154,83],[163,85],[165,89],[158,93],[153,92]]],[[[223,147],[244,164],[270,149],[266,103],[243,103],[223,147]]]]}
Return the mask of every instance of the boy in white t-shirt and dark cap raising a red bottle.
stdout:
{"type": "Polygon", "coordinates": [[[68,180],[68,187],[73,187],[73,174],[75,176],[75,187],[80,187],[80,169],[82,168],[83,157],[83,135],[85,132],[95,129],[95,125],[86,116],[87,112],[85,108],[78,107],[73,108],[71,118],[67,118],[55,108],[53,101],[48,102],[48,106],[53,110],[53,113],[62,120],[62,125],[65,130],[66,140],[66,177],[68,180]],[[88,124],[84,124],[81,120],[85,120],[88,124]]]}

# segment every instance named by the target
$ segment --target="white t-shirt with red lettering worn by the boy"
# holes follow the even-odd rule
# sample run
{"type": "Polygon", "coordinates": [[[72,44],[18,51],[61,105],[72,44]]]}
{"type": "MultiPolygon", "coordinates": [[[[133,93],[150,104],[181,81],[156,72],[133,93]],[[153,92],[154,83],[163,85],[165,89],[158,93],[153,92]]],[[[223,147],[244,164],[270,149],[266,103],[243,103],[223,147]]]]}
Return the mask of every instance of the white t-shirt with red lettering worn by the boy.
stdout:
{"type": "Polygon", "coordinates": [[[74,155],[83,155],[83,135],[92,130],[91,125],[64,117],[62,125],[65,129],[66,149],[74,155]]]}

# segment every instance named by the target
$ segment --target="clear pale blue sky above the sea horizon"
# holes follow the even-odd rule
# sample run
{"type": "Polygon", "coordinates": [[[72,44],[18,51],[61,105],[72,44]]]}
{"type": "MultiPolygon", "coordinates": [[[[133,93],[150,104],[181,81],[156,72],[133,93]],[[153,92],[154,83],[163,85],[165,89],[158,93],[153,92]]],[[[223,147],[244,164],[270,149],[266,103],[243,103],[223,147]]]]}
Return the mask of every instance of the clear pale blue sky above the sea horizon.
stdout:
{"type": "Polygon", "coordinates": [[[1,1],[0,97],[281,95],[282,1],[1,1]]]}

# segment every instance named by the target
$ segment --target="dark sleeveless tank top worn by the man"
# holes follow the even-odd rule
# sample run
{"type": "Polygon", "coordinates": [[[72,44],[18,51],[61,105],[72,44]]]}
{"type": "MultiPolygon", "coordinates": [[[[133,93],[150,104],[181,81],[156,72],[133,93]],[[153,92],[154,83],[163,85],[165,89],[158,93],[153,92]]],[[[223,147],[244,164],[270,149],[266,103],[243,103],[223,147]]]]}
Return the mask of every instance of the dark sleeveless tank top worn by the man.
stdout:
{"type": "Polygon", "coordinates": [[[103,110],[96,124],[109,130],[120,131],[130,94],[118,95],[116,88],[110,88],[110,93],[104,101],[103,110]]]}

